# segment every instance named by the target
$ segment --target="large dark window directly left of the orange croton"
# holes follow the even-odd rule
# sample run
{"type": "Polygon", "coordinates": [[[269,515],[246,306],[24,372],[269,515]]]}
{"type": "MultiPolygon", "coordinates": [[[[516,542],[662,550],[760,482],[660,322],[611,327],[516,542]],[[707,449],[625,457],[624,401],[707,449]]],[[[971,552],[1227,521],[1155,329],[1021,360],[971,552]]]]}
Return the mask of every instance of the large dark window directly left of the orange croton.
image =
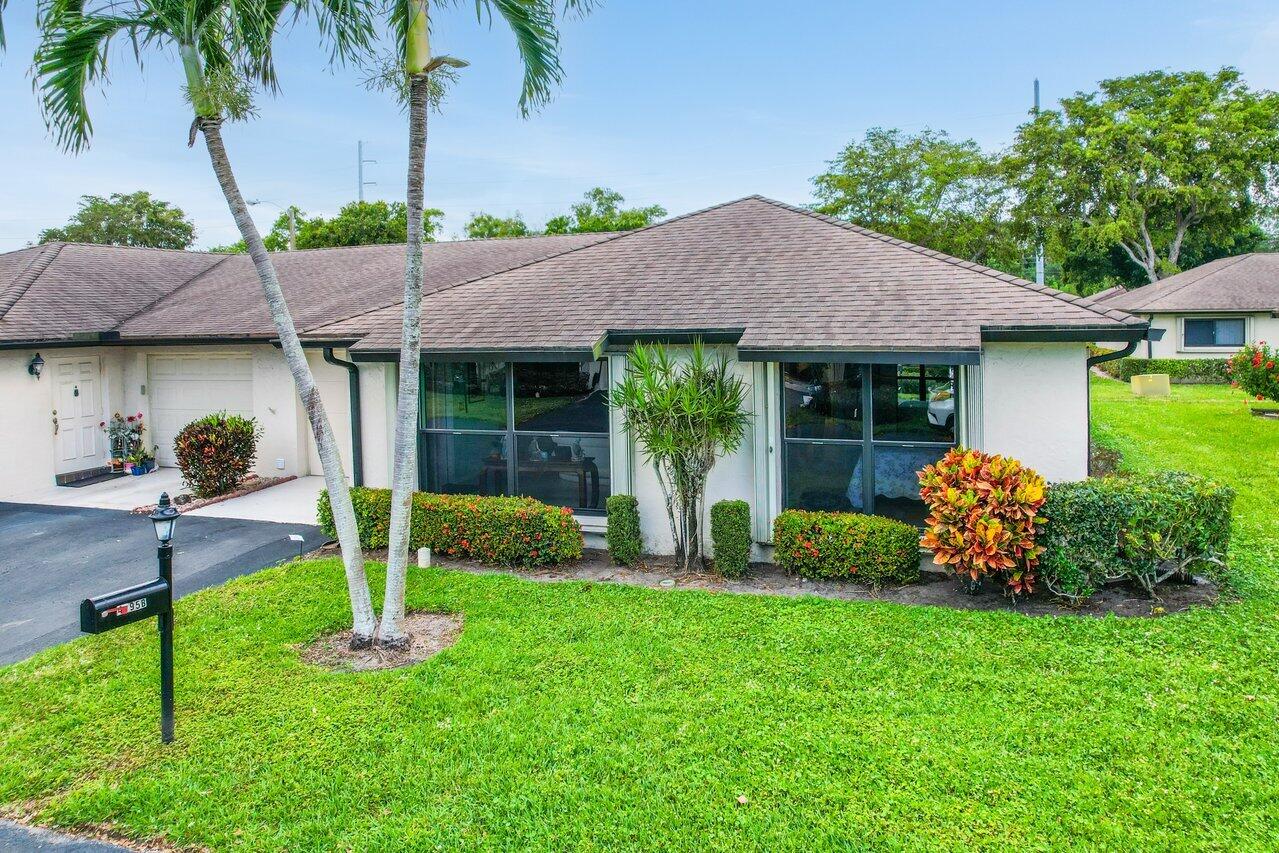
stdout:
{"type": "Polygon", "coordinates": [[[955,442],[957,368],[787,363],[781,380],[785,505],[922,523],[916,472],[955,442]]]}

